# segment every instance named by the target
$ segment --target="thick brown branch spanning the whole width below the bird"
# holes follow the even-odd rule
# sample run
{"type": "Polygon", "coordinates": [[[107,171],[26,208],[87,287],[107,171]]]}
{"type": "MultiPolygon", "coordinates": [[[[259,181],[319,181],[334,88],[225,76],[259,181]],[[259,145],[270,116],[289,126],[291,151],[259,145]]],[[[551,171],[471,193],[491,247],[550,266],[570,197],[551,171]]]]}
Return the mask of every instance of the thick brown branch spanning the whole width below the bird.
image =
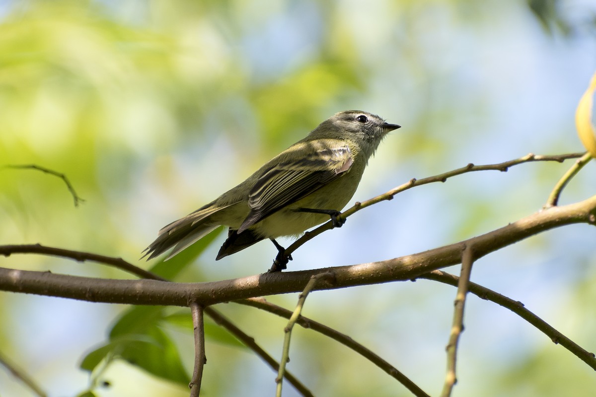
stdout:
{"type": "MultiPolygon", "coordinates": [[[[429,271],[457,264],[465,245],[473,245],[474,256],[481,258],[537,233],[573,223],[596,223],[596,196],[575,204],[548,208],[485,235],[430,251],[386,261],[334,267],[334,284],[317,286],[316,289],[414,279],[429,271]]],[[[188,302],[196,301],[207,306],[253,296],[299,292],[304,289],[313,274],[321,271],[315,269],[283,274],[260,274],[208,283],[174,284],[156,280],[92,279],[0,268],[0,290],[92,302],[187,306],[188,302]]]]}

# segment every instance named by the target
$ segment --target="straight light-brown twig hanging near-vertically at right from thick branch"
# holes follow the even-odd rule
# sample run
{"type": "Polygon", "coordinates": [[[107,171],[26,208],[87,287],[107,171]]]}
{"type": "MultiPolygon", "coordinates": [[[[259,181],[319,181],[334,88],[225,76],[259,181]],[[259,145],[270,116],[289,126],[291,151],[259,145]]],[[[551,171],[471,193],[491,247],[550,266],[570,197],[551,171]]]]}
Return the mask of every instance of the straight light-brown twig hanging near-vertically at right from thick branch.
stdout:
{"type": "Polygon", "coordinates": [[[474,255],[470,245],[466,245],[462,252],[461,259],[461,276],[457,283],[457,293],[455,295],[453,322],[451,325],[451,333],[449,334],[449,342],[447,343],[447,374],[445,376],[445,383],[443,384],[442,397],[451,396],[453,386],[457,383],[457,376],[455,373],[457,362],[457,348],[460,342],[461,333],[464,331],[464,308],[465,296],[468,293],[468,285],[470,284],[470,273],[472,271],[472,264],[474,263],[474,255]]]}

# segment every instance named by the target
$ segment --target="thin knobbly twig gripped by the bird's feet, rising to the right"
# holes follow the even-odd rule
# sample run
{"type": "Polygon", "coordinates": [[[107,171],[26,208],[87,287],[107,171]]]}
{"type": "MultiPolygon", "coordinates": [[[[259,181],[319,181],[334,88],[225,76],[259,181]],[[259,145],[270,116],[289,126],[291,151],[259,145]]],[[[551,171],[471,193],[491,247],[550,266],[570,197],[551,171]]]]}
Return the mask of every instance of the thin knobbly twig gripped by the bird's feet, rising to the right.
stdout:
{"type": "MultiPolygon", "coordinates": [[[[370,207],[371,205],[377,204],[378,202],[381,202],[381,201],[391,200],[398,193],[401,193],[404,190],[411,189],[412,187],[420,186],[420,185],[427,185],[428,183],[434,183],[434,182],[446,182],[446,180],[448,180],[449,178],[457,176],[457,175],[474,172],[474,171],[489,171],[489,170],[506,172],[510,167],[513,167],[514,165],[518,165],[518,164],[523,164],[525,162],[533,162],[533,161],[563,162],[564,160],[569,160],[571,158],[578,158],[578,157],[582,157],[582,156],[583,156],[583,153],[570,153],[570,154],[562,154],[562,155],[535,155],[535,154],[530,153],[530,154],[525,155],[524,157],[520,157],[520,158],[517,158],[514,160],[510,160],[510,161],[499,162],[498,164],[474,165],[474,164],[470,163],[470,164],[466,165],[465,167],[457,168],[455,170],[447,171],[446,173],[438,174],[435,176],[430,176],[430,177],[426,177],[423,179],[412,178],[408,182],[403,183],[402,185],[397,186],[392,190],[389,190],[389,192],[383,193],[382,195],[378,195],[378,196],[371,198],[367,201],[356,202],[356,204],[354,204],[353,207],[348,208],[346,211],[342,212],[342,214],[340,214],[339,217],[337,217],[337,219],[339,219],[339,220],[345,219],[345,218],[349,217],[350,215],[354,214],[355,212],[362,210],[362,208],[370,207]]],[[[317,227],[316,229],[311,230],[310,232],[306,232],[299,239],[297,239],[290,246],[288,246],[288,248],[285,249],[284,254],[291,255],[294,251],[296,251],[296,249],[298,249],[300,246],[302,246],[307,241],[309,241],[309,240],[313,239],[314,237],[320,235],[321,233],[325,232],[325,230],[331,230],[331,229],[333,229],[333,222],[328,221],[327,223],[322,224],[321,226],[317,227]]]]}

